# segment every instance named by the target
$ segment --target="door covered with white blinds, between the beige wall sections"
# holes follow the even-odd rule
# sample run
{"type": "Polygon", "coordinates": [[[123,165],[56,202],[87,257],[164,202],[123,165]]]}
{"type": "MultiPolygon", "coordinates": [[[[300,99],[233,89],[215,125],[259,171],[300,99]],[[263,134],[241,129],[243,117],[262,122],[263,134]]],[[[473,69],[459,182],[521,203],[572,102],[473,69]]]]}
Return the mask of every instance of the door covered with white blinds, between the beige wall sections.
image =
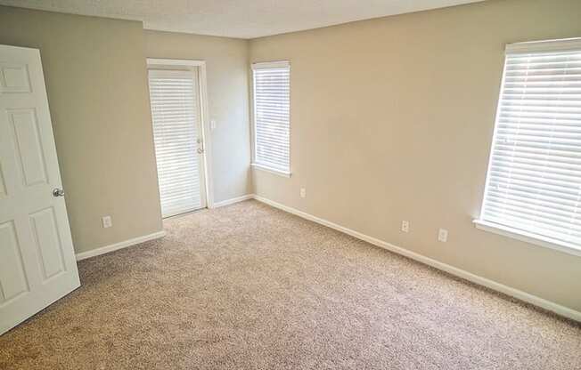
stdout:
{"type": "Polygon", "coordinates": [[[149,70],[163,217],[206,207],[199,70],[149,70]]]}

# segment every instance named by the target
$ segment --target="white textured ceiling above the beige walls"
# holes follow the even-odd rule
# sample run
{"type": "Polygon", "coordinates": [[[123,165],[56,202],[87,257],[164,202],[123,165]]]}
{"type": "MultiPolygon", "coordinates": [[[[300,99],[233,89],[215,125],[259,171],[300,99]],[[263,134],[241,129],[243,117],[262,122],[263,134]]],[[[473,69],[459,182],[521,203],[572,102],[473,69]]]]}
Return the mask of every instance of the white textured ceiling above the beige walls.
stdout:
{"type": "Polygon", "coordinates": [[[143,27],[254,38],[483,0],[0,0],[53,12],[143,20],[143,27]]]}

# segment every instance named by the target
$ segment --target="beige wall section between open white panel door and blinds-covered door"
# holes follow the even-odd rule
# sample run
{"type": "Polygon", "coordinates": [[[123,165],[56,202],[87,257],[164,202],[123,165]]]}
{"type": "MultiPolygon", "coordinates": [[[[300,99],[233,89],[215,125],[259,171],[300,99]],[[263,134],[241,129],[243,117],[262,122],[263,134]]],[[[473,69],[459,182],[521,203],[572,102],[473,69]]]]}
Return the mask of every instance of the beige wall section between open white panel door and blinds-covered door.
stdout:
{"type": "Polygon", "coordinates": [[[0,44],[40,49],[76,252],[159,231],[141,22],[0,6],[0,44]]]}

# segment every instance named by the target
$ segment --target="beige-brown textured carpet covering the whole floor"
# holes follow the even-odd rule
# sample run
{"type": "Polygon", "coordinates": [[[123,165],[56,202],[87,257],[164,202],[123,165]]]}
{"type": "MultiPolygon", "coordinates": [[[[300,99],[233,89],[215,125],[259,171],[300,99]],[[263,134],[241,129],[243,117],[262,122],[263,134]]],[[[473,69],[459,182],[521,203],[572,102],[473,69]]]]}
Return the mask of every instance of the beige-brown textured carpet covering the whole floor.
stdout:
{"type": "Polygon", "coordinates": [[[0,369],[581,369],[581,326],[247,201],[81,261],[0,369]]]}

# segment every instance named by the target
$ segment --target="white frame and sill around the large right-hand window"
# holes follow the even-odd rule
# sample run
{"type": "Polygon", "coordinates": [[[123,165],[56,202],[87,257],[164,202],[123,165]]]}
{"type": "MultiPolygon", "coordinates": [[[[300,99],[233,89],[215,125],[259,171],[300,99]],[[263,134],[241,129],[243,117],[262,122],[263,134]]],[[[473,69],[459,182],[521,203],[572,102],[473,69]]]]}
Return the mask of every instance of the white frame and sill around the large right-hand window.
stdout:
{"type": "MultiPolygon", "coordinates": [[[[568,38],[561,40],[543,40],[543,41],[531,41],[516,44],[506,44],[505,53],[528,53],[528,52],[566,52],[572,50],[581,50],[581,38],[568,38]]],[[[511,228],[510,226],[504,226],[495,222],[485,221],[482,219],[482,212],[484,211],[485,197],[488,191],[488,183],[490,176],[490,166],[493,159],[493,147],[496,142],[496,124],[498,121],[498,115],[500,114],[500,106],[502,103],[504,78],[506,74],[506,58],[503,59],[503,77],[500,85],[500,93],[498,94],[498,105],[496,108],[495,116],[495,133],[493,135],[492,141],[490,143],[490,154],[488,157],[487,165],[487,178],[485,182],[484,193],[482,194],[482,203],[480,205],[480,215],[478,218],[473,220],[474,226],[478,229],[492,232],[504,237],[511,237],[520,241],[527,242],[532,245],[540,245],[546,248],[550,248],[563,253],[569,253],[576,256],[581,256],[581,247],[579,245],[574,245],[562,240],[553,239],[552,237],[544,237],[537,235],[532,232],[528,232],[521,229],[511,228]]]]}

